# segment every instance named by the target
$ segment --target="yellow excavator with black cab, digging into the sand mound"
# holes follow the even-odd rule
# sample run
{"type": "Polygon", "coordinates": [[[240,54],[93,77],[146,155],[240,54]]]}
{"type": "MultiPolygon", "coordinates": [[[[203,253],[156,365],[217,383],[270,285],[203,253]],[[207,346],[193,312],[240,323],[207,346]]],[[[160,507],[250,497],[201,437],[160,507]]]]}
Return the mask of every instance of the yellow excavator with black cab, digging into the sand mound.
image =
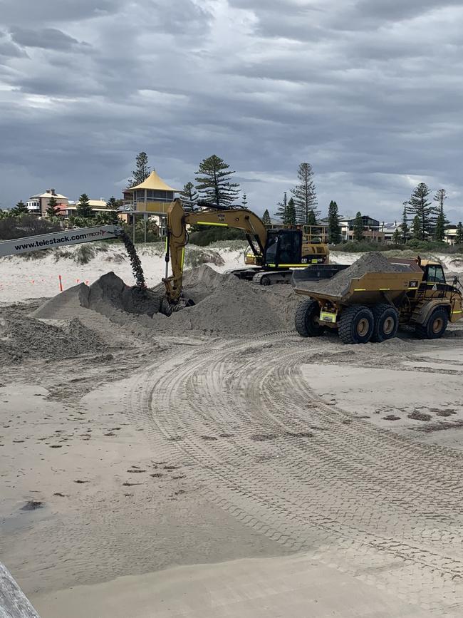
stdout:
{"type": "Polygon", "coordinates": [[[246,253],[245,263],[252,267],[234,269],[230,273],[256,284],[289,283],[292,269],[328,262],[327,244],[321,242],[321,237],[304,235],[301,227],[267,230],[251,210],[200,206],[202,210],[185,212],[181,200],[177,199],[167,211],[166,271],[162,279],[166,288],[162,312],[167,315],[191,304],[182,297],[184,250],[189,225],[216,225],[244,230],[251,250],[251,253],[246,253]],[[170,277],[169,262],[172,268],[170,277]]]}

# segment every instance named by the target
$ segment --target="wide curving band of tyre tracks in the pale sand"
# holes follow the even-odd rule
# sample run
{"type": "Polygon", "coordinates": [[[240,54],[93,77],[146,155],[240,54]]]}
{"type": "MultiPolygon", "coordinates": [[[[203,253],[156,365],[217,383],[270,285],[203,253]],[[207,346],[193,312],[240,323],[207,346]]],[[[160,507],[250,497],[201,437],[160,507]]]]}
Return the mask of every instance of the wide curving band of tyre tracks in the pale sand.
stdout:
{"type": "Polygon", "coordinates": [[[246,525],[439,615],[461,614],[462,453],[317,397],[299,367],[322,348],[288,333],[176,351],[137,379],[128,411],[246,525]]]}

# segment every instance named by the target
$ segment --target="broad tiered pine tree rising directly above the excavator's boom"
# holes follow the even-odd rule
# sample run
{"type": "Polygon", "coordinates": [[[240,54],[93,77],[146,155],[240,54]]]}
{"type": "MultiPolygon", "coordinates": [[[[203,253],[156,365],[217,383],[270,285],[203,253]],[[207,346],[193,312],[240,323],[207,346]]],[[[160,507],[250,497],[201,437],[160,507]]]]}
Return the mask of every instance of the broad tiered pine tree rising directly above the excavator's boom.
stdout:
{"type": "Polygon", "coordinates": [[[196,188],[205,202],[216,207],[229,207],[239,193],[239,184],[230,182],[231,174],[229,165],[223,159],[212,155],[202,160],[199,170],[196,172],[196,188]]]}

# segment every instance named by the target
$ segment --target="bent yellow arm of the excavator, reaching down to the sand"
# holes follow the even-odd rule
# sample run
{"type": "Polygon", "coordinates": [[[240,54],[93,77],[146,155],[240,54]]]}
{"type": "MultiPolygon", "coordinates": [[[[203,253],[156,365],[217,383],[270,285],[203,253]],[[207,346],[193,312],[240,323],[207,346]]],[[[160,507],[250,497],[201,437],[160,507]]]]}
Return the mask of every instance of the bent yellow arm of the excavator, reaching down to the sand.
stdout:
{"type": "Polygon", "coordinates": [[[166,269],[165,284],[166,296],[163,311],[172,313],[174,309],[184,307],[181,301],[184,250],[188,242],[187,225],[217,225],[219,227],[234,227],[244,230],[246,238],[256,257],[264,254],[267,240],[267,230],[257,215],[250,210],[199,210],[184,212],[182,202],[176,199],[167,210],[167,241],[166,241],[166,269]],[[172,275],[169,277],[169,262],[172,275]]]}

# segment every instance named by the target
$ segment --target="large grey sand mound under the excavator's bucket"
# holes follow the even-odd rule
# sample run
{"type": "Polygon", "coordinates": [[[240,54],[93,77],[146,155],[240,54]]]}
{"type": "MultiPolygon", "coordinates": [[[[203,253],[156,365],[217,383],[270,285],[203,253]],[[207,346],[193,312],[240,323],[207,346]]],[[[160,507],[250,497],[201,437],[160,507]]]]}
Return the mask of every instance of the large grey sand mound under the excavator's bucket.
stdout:
{"type": "MultiPolygon", "coordinates": [[[[281,286],[280,286],[281,287],[281,286]]],[[[184,274],[184,296],[196,303],[167,317],[158,313],[164,284],[143,294],[130,288],[111,272],[90,287],[80,284],[34,311],[33,316],[60,319],[93,309],[118,324],[155,329],[167,335],[217,334],[240,336],[292,330],[298,297],[289,287],[274,291],[243,282],[232,274],[220,274],[202,264],[184,274]]]]}

